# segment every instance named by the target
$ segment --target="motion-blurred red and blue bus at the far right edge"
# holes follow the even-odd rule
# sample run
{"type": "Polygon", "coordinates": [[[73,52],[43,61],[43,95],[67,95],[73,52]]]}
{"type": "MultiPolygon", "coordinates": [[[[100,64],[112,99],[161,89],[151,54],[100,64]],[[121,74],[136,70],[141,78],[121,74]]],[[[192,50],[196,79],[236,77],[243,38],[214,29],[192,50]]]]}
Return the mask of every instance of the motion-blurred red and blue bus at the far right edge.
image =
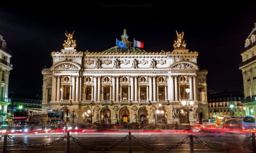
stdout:
{"type": "Polygon", "coordinates": [[[255,117],[252,116],[225,116],[223,127],[228,129],[255,130],[255,117]]]}

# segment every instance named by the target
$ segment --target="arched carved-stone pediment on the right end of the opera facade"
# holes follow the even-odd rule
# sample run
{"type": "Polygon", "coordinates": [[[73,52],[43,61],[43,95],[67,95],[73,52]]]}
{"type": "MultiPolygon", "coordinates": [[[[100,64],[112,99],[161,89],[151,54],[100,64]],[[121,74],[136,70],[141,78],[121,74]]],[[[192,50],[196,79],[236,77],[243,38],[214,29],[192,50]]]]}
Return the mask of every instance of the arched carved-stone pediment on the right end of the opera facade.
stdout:
{"type": "Polygon", "coordinates": [[[189,61],[178,61],[170,65],[170,69],[176,70],[187,70],[187,69],[198,69],[198,66],[189,61]]]}

